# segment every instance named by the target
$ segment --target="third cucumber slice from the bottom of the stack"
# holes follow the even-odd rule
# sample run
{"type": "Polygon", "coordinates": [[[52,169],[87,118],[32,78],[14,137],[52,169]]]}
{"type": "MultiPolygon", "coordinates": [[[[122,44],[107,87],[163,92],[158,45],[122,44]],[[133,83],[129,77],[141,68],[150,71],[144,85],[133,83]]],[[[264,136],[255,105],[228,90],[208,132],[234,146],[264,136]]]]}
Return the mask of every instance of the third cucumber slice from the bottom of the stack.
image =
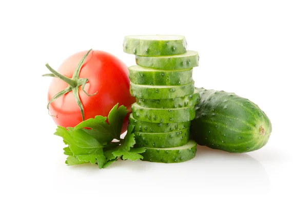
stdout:
{"type": "Polygon", "coordinates": [[[150,122],[141,122],[140,120],[135,119],[132,116],[132,113],[129,114],[129,123],[134,125],[134,130],[137,132],[147,132],[147,133],[163,133],[170,131],[178,131],[189,128],[190,122],[181,122],[181,123],[150,123],[150,122]]]}

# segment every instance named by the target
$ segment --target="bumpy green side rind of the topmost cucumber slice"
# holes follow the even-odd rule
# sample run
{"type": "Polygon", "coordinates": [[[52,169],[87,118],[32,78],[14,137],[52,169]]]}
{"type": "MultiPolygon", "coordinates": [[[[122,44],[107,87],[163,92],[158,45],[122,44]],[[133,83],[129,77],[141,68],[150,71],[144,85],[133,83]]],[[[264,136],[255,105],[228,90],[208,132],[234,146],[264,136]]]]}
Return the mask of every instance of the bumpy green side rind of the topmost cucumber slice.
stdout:
{"type": "Polygon", "coordinates": [[[140,56],[176,55],[186,52],[186,38],[175,41],[151,41],[124,37],[123,51],[140,56]]]}

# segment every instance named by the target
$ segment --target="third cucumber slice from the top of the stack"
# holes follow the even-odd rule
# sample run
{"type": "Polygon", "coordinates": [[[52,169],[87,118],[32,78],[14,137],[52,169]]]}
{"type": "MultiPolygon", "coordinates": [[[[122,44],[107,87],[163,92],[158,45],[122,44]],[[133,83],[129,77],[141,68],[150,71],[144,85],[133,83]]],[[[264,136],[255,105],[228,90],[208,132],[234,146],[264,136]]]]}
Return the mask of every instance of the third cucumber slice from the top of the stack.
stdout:
{"type": "Polygon", "coordinates": [[[185,85],[193,82],[192,68],[157,70],[141,66],[128,67],[130,82],[138,85],[185,85]]]}

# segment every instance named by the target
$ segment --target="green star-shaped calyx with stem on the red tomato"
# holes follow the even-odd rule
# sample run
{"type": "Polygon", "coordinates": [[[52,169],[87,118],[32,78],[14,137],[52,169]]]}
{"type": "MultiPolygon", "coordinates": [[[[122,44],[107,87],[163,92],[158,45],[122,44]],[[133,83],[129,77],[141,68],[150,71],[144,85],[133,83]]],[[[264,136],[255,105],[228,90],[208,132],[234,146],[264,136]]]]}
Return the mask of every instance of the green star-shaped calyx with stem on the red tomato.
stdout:
{"type": "MultiPolygon", "coordinates": [[[[47,109],[48,109],[48,113],[49,113],[49,105],[57,98],[63,96],[64,94],[72,91],[74,98],[76,100],[77,105],[80,108],[81,111],[81,115],[82,115],[82,120],[85,120],[85,115],[84,115],[84,108],[83,105],[81,103],[80,97],[79,97],[79,87],[82,86],[82,90],[85,94],[87,94],[88,96],[92,96],[97,94],[98,92],[95,92],[93,94],[88,94],[84,88],[86,86],[86,83],[88,82],[88,78],[80,78],[80,70],[82,65],[84,64],[88,54],[92,51],[92,49],[90,49],[81,59],[81,61],[79,62],[78,66],[75,68],[75,71],[73,73],[72,78],[69,78],[65,75],[60,74],[59,72],[55,71],[53,68],[51,68],[48,64],[46,64],[45,66],[48,68],[48,70],[51,72],[49,74],[44,74],[42,76],[48,76],[48,77],[56,77],[59,79],[62,79],[62,81],[66,82],[68,84],[68,87],[65,88],[63,91],[60,91],[59,93],[55,94],[48,102],[47,104],[47,109]]],[[[54,115],[51,115],[54,116],[54,115]]]]}

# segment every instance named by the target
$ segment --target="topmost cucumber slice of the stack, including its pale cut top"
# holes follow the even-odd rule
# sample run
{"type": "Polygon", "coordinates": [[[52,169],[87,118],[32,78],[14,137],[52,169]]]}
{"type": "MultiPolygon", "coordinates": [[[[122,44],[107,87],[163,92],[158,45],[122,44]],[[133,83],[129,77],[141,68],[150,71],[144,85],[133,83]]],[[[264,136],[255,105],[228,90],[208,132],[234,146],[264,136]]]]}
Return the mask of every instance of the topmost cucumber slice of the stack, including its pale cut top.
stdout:
{"type": "Polygon", "coordinates": [[[141,56],[176,55],[186,52],[182,35],[129,35],[124,37],[123,51],[141,56]]]}

